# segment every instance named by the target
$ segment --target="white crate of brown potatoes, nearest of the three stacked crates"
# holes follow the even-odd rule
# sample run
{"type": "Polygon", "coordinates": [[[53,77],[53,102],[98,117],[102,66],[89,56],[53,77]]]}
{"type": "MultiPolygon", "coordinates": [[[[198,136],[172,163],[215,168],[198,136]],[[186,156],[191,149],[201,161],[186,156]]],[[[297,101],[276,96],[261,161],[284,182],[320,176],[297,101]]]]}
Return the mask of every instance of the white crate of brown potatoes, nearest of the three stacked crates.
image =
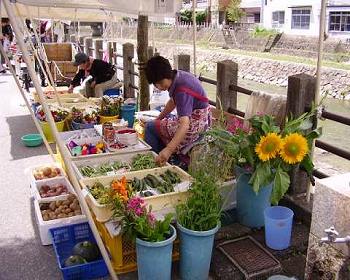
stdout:
{"type": "Polygon", "coordinates": [[[51,228],[86,222],[86,217],[82,214],[79,201],[74,194],[46,202],[34,200],[34,209],[43,245],[52,244],[49,234],[51,228]]]}

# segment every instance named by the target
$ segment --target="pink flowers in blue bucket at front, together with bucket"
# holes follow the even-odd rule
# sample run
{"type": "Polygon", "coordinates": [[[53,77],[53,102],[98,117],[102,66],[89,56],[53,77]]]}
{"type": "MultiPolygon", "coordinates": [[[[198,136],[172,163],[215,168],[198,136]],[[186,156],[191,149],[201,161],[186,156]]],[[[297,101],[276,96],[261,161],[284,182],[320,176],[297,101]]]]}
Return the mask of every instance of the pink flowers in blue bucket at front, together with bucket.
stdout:
{"type": "Polygon", "coordinates": [[[140,197],[132,197],[127,203],[118,200],[114,210],[117,217],[122,216],[125,235],[136,240],[138,279],[170,280],[176,239],[176,230],[170,224],[173,215],[156,220],[152,209],[147,209],[140,197]]]}

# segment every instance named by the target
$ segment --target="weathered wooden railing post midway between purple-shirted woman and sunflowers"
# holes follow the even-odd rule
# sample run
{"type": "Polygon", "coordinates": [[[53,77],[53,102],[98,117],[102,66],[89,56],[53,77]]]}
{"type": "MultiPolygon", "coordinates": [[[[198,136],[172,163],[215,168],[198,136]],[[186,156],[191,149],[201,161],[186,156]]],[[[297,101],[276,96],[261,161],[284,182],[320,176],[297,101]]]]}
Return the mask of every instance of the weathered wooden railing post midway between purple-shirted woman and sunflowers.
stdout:
{"type": "Polygon", "coordinates": [[[238,64],[232,60],[217,63],[216,108],[228,111],[237,109],[237,91],[230,89],[238,83],[238,64]]]}

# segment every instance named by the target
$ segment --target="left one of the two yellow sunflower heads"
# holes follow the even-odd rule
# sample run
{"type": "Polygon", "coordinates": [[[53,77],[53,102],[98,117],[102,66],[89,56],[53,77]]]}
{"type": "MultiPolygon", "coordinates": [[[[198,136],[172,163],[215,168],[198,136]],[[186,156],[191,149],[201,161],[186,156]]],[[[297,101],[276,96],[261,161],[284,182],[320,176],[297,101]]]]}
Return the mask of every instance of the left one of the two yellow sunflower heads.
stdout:
{"type": "Polygon", "coordinates": [[[255,146],[255,152],[262,161],[275,158],[282,146],[282,139],[276,133],[268,133],[261,137],[260,142],[255,146]]]}

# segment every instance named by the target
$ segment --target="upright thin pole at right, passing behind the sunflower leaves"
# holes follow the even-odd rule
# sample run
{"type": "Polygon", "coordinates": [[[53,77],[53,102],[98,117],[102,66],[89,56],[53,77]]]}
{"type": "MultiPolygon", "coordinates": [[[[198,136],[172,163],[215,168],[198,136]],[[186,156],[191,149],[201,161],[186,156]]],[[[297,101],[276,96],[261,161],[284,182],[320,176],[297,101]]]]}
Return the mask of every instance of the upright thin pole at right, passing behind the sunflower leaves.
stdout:
{"type": "MultiPolygon", "coordinates": [[[[320,14],[320,27],[318,35],[318,54],[317,54],[317,68],[316,68],[316,92],[315,92],[315,104],[321,100],[321,68],[322,68],[322,56],[323,56],[323,43],[326,23],[326,6],[327,0],[321,1],[321,14],[320,14]]],[[[314,149],[314,148],[313,148],[314,149]]],[[[311,185],[308,185],[306,192],[306,201],[310,202],[311,199],[311,185]]]]}

